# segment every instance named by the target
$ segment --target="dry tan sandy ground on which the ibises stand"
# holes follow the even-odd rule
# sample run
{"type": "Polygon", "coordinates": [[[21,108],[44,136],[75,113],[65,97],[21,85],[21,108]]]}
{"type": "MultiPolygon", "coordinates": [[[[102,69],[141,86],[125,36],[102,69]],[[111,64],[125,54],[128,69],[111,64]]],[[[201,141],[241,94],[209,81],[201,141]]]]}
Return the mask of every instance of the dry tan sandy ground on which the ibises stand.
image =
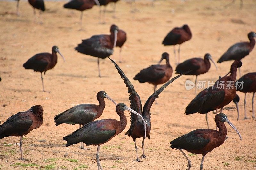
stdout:
{"type": "MultiPolygon", "coordinates": [[[[230,0],[231,1],[231,0],[230,0]]],[[[98,7],[84,11],[83,28],[79,30],[80,12],[63,8],[65,2],[45,2],[47,10],[42,14],[43,24],[35,22],[33,10],[27,1],[20,1],[20,16],[16,17],[16,1],[0,1],[0,120],[2,123],[19,111],[28,110],[33,105],[44,107],[44,123],[39,129],[30,132],[24,138],[24,157],[30,161],[18,161],[20,157],[19,137],[6,137],[0,140],[1,169],[96,169],[95,154],[97,148],[79,149],[79,144],[65,147],[62,137],[78,128],[63,124],[54,125],[54,115],[80,103],[98,103],[96,93],[105,90],[116,102],[127,105],[127,88],[113,64],[100,60],[102,78],[98,77],[97,59],[76,52],[73,48],[81,39],[95,34],[109,34],[112,23],[127,33],[122,57],[118,63],[133,83],[140,95],[142,104],[153,93],[153,85],[132,80],[141,69],[156,64],[164,51],[170,53],[170,63],[174,65],[173,47],[161,45],[165,35],[175,26],[187,23],[193,33],[190,41],[181,46],[181,61],[191,57],[203,57],[210,53],[217,59],[230,45],[239,41],[248,41],[247,33],[256,31],[256,4],[253,0],[244,1],[243,9],[239,2],[224,8],[229,0],[170,0],[139,1],[139,12],[132,13],[131,5],[125,1],[117,3],[116,19],[112,18],[111,5],[107,7],[106,24],[98,23],[98,7]],[[22,64],[39,52],[51,52],[57,45],[66,58],[61,57],[57,65],[44,76],[45,89],[42,92],[40,73],[25,70],[22,64]],[[10,146],[8,146],[10,145],[10,146]],[[65,153],[69,158],[65,158],[65,153]],[[27,164],[27,165],[26,165],[27,164]],[[37,167],[38,166],[38,167],[37,167]]],[[[38,14],[38,13],[37,13],[38,14]]],[[[119,49],[115,48],[111,58],[117,61],[119,49]]],[[[245,57],[241,68],[242,75],[255,71],[256,49],[245,57]]],[[[200,75],[198,80],[216,80],[225,75],[232,61],[218,64],[218,71],[212,66],[208,73],[200,75]]],[[[175,74],[172,75],[174,77],[175,74]]],[[[185,115],[188,103],[195,97],[194,91],[185,90],[184,83],[194,76],[182,76],[169,85],[159,96],[159,104],[151,108],[151,139],[145,140],[146,159],[136,162],[134,143],[131,137],[124,136],[126,129],[111,141],[101,146],[101,165],[104,169],[186,169],[187,160],[178,150],[173,150],[169,142],[194,129],[207,128],[205,115],[185,115]],[[106,159],[107,158],[107,159],[106,159]],[[119,159],[119,160],[117,160],[119,159]]],[[[160,87],[160,86],[159,86],[160,87]]],[[[240,131],[243,140],[227,126],[228,139],[220,147],[208,153],[204,160],[204,169],[255,169],[256,145],[255,123],[252,119],[252,94],[247,95],[247,112],[250,119],[244,120],[244,94],[238,92],[241,101],[240,120],[236,120],[235,109],[224,113],[240,131]]],[[[235,107],[233,103],[228,105],[235,107]]],[[[106,108],[100,119],[119,119],[115,106],[106,100],[106,108]]],[[[210,128],[215,129],[214,114],[209,114],[210,128]]],[[[227,125],[227,124],[226,124],[227,125]]],[[[137,139],[139,155],[142,154],[142,138],[137,139]]],[[[191,169],[199,169],[202,155],[192,155],[185,151],[192,161],[191,169]]]]}

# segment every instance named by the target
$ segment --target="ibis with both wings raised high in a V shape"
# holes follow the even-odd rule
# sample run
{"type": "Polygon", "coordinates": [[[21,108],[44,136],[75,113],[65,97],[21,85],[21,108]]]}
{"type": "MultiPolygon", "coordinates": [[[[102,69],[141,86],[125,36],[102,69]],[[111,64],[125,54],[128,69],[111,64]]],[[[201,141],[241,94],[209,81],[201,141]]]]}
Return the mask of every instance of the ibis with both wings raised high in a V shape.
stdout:
{"type": "MultiPolygon", "coordinates": [[[[109,58],[110,59],[110,58],[109,58]]],[[[111,59],[110,59],[111,60],[111,59]]],[[[138,112],[145,121],[147,121],[147,125],[146,125],[146,135],[144,135],[144,131],[143,131],[143,125],[144,123],[142,121],[140,121],[140,119],[138,118],[138,116],[131,114],[131,126],[129,128],[129,130],[125,133],[125,135],[129,135],[132,137],[134,144],[135,144],[135,150],[136,150],[136,154],[137,154],[137,159],[136,161],[140,162],[140,159],[138,157],[138,153],[137,153],[137,145],[136,145],[136,138],[140,138],[143,137],[142,140],[142,150],[143,150],[143,154],[141,155],[141,158],[146,158],[145,154],[144,154],[144,139],[146,137],[148,137],[148,139],[150,139],[150,130],[151,130],[151,122],[150,122],[150,108],[154,102],[154,100],[158,97],[158,95],[164,90],[165,87],[167,87],[170,83],[172,83],[175,79],[179,78],[181,75],[180,74],[174,78],[172,78],[171,80],[169,80],[167,83],[165,83],[162,87],[160,87],[157,91],[155,91],[151,96],[149,96],[148,100],[146,101],[146,103],[144,104],[143,110],[142,110],[142,105],[141,105],[141,101],[140,101],[140,96],[138,95],[138,93],[135,91],[132,83],[130,82],[130,80],[125,76],[124,72],[121,70],[121,68],[113,61],[111,60],[112,63],[114,63],[118,73],[120,74],[121,78],[124,80],[124,83],[126,85],[126,87],[128,87],[128,93],[130,94],[129,96],[129,100],[130,100],[130,104],[131,104],[131,108],[133,110],[135,110],[136,112],[138,112]]],[[[186,72],[185,72],[186,73],[186,72]]]]}

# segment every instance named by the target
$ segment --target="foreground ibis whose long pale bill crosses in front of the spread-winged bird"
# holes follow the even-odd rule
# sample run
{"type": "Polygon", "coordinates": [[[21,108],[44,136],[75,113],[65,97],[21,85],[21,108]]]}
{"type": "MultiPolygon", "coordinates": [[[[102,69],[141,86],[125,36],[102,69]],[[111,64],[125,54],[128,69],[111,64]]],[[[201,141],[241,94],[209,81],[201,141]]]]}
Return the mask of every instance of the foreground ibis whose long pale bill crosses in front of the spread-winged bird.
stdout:
{"type": "MultiPolygon", "coordinates": [[[[63,137],[63,140],[67,141],[66,146],[77,144],[79,142],[84,142],[87,146],[98,146],[96,160],[98,170],[102,170],[99,160],[100,145],[110,141],[113,137],[115,137],[125,129],[127,124],[127,120],[124,115],[125,110],[128,110],[143,119],[140,114],[127,107],[124,103],[118,103],[116,105],[116,112],[120,117],[120,121],[117,121],[116,119],[102,119],[89,122],[80,129],[71,133],[70,135],[63,137]]],[[[144,123],[146,124],[146,122],[144,123]]],[[[143,131],[143,129],[141,130],[143,131]]]]}

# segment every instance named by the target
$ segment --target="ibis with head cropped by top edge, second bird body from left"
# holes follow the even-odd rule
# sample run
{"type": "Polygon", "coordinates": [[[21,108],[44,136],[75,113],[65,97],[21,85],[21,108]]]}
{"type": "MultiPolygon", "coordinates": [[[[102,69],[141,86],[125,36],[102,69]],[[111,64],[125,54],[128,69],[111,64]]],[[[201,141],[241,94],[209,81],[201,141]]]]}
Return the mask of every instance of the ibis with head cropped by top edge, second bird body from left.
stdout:
{"type": "Polygon", "coordinates": [[[92,8],[95,4],[100,6],[100,3],[98,0],[71,0],[68,3],[64,4],[63,7],[81,11],[80,30],[82,30],[83,11],[92,8]]]}

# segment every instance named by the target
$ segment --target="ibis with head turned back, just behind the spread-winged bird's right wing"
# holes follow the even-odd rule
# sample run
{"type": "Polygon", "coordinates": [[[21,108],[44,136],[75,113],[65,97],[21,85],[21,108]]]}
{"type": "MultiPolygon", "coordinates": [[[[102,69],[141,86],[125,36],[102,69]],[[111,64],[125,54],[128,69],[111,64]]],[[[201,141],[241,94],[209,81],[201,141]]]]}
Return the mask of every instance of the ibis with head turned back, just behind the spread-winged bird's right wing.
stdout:
{"type": "Polygon", "coordinates": [[[148,82],[153,84],[155,92],[156,86],[167,82],[171,76],[172,66],[169,63],[169,54],[164,52],[158,64],[142,69],[133,79],[138,80],[140,83],[148,82]],[[160,65],[161,61],[164,59],[166,60],[166,64],[160,65]]]}

